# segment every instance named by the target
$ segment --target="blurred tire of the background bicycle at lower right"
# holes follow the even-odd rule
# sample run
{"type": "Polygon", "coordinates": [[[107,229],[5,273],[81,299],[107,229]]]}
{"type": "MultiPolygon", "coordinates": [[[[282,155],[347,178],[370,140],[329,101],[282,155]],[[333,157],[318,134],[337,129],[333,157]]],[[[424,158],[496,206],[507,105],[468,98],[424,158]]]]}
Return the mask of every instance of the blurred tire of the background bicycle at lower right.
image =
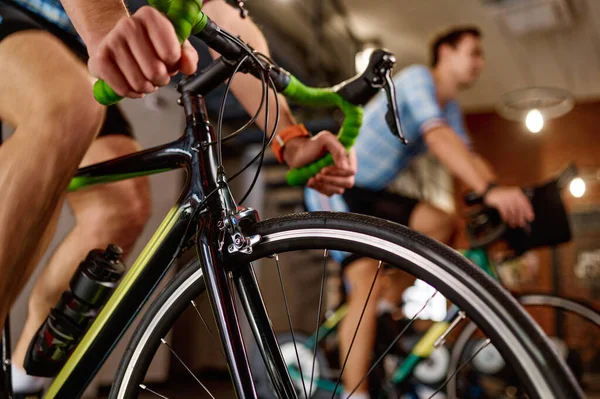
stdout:
{"type": "MultiPolygon", "coordinates": [[[[597,310],[595,310],[592,306],[590,306],[589,304],[587,304],[583,301],[578,301],[578,300],[573,300],[573,299],[569,299],[569,298],[565,298],[565,297],[561,297],[561,296],[548,295],[548,294],[521,295],[521,296],[517,297],[517,300],[519,301],[519,303],[521,303],[524,306],[531,305],[531,306],[556,307],[556,308],[577,314],[580,317],[582,317],[582,318],[596,324],[598,327],[600,327],[600,313],[597,310]]],[[[450,356],[450,364],[448,366],[448,375],[452,375],[452,373],[458,367],[458,364],[460,363],[461,359],[463,358],[463,352],[465,351],[465,348],[466,348],[469,340],[471,339],[473,334],[475,334],[476,330],[477,330],[477,326],[475,325],[475,323],[472,323],[472,322],[467,324],[461,330],[454,345],[452,346],[452,353],[450,356]]],[[[448,386],[447,386],[446,395],[447,395],[448,399],[457,399],[458,398],[456,378],[452,378],[449,381],[448,386]]]]}

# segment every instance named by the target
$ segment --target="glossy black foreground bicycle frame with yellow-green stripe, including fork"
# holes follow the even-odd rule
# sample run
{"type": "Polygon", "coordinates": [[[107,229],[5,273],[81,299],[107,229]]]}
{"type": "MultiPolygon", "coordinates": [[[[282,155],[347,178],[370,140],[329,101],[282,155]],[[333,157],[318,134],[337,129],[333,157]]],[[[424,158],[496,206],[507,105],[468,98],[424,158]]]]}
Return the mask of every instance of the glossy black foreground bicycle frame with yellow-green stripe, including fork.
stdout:
{"type": "Polygon", "coordinates": [[[183,168],[187,180],[183,192],[138,259],[127,272],[102,312],[70,356],[45,398],[80,397],[112,349],[133,322],[173,261],[199,228],[197,237],[201,268],[213,315],[226,353],[238,397],[256,397],[246,358],[237,312],[230,292],[231,276],[251,320],[259,349],[280,397],[296,397],[285,363],[271,330],[256,278],[250,267],[226,270],[219,251],[218,222],[237,212],[222,171],[216,162],[215,135],[208,123],[204,100],[184,92],[186,115],[183,136],[176,141],[118,159],[80,169],[70,190],[183,168]],[[203,202],[204,201],[204,202],[203,202]],[[203,207],[204,204],[206,207],[203,207]],[[260,333],[259,333],[260,331],[260,333]]]}

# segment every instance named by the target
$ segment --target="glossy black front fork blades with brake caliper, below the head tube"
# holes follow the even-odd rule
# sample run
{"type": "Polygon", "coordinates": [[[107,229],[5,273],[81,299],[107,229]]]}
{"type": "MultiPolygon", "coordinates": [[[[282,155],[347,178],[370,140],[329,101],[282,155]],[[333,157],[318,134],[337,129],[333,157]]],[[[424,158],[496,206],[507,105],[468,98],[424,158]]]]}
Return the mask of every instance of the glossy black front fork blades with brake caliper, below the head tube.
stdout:
{"type": "Polygon", "coordinates": [[[234,288],[230,285],[232,279],[277,396],[295,399],[297,394],[279,350],[252,265],[238,263],[231,271],[225,268],[226,253],[249,254],[252,246],[260,240],[258,236],[247,237],[240,228],[248,219],[252,221],[252,215],[255,215],[252,210],[244,209],[221,220],[210,215],[201,218],[202,234],[198,238],[201,267],[237,396],[256,398],[256,391],[235,307],[234,288]]]}

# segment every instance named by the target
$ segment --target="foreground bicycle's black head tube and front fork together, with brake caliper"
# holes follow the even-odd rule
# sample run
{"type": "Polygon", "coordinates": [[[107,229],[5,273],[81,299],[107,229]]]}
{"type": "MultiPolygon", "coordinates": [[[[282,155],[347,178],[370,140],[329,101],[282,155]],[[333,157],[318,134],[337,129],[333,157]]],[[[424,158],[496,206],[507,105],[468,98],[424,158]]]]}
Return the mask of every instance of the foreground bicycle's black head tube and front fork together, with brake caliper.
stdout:
{"type": "Polygon", "coordinates": [[[252,372],[246,355],[246,348],[236,311],[235,284],[245,307],[247,319],[254,333],[258,347],[265,359],[267,370],[272,376],[278,397],[297,398],[283,356],[279,351],[275,333],[262,302],[260,290],[247,262],[229,262],[232,255],[252,253],[252,247],[260,241],[260,236],[248,236],[245,226],[258,221],[252,209],[239,209],[229,190],[223,168],[218,165],[214,134],[208,124],[204,101],[190,93],[183,93],[181,104],[186,113],[188,127],[193,129],[197,142],[193,154],[192,173],[197,175],[193,182],[204,182],[198,191],[205,193],[204,201],[211,201],[199,216],[198,253],[208,290],[212,312],[223,344],[229,372],[238,398],[256,398],[252,372]],[[214,197],[213,197],[214,195],[214,197]],[[210,198],[209,198],[210,197],[210,198]],[[220,212],[210,211],[219,209],[220,212]],[[235,264],[237,267],[226,269],[235,264]]]}

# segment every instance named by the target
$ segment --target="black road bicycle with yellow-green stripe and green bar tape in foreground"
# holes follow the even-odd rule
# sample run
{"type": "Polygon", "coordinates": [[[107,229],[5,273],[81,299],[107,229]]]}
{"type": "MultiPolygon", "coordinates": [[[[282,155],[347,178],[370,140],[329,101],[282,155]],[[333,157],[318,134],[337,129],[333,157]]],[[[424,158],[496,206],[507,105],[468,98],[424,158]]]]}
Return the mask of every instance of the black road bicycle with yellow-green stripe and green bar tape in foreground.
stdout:
{"type": "MultiPolygon", "coordinates": [[[[265,259],[279,266],[288,252],[309,249],[323,253],[325,265],[329,250],[345,250],[381,259],[411,272],[439,289],[482,326],[511,364],[522,371],[531,397],[582,397],[564,362],[518,303],[451,249],[403,226],[360,215],[302,213],[259,222],[254,210],[239,208],[232,197],[221,162],[221,143],[231,137],[221,134],[224,101],[214,132],[204,108],[206,93],[227,79],[231,82],[238,72],[253,73],[262,81],[262,103],[266,111],[269,97],[265,93],[269,90],[283,93],[301,104],[340,108],[346,118],[338,137],[350,148],[361,125],[360,106],[385,87],[390,100],[386,120],[392,132],[402,140],[393,85],[390,84],[395,60],[389,52],[376,52],[367,70],[355,79],[330,89],[309,88],[219,28],[202,13],[201,2],[156,0],[151,4],[170,17],[180,39],[193,33],[222,56],[179,84],[179,103],[186,118],[186,128],[180,139],[88,166],[74,177],[70,190],[176,168],[187,172],[177,204],[64,364],[45,398],[71,399],[82,395],[158,282],[188,249],[197,251],[197,259],[169,282],[144,314],[116,373],[111,398],[136,397],[141,391],[161,396],[144,384],[148,365],[159,347],[170,348],[163,338],[183,311],[193,309],[194,300],[204,293],[210,300],[235,392],[238,397],[255,398],[234,288],[278,397],[298,397],[297,387],[289,376],[270,326],[252,265],[265,259]]],[[[95,94],[101,100],[119,99],[102,83],[95,86],[95,94]]],[[[277,111],[277,102],[275,108],[277,111]]],[[[255,119],[256,115],[247,125],[255,119]]],[[[269,120],[268,116],[266,120],[269,120]]],[[[272,137],[264,136],[263,148],[255,160],[262,160],[272,137]]],[[[326,156],[308,167],[290,171],[288,181],[303,184],[331,163],[331,156],[326,156]]],[[[322,291],[321,287],[321,294],[322,291]]],[[[174,356],[178,358],[176,354],[174,356]]],[[[5,354],[3,360],[6,365],[9,357],[5,354]]],[[[195,375],[194,378],[199,389],[204,391],[204,385],[195,375]]],[[[10,390],[10,379],[2,380],[8,381],[7,389],[10,390]]],[[[306,396],[305,387],[303,390],[306,396]]],[[[10,395],[6,392],[5,396],[10,395]]]]}

